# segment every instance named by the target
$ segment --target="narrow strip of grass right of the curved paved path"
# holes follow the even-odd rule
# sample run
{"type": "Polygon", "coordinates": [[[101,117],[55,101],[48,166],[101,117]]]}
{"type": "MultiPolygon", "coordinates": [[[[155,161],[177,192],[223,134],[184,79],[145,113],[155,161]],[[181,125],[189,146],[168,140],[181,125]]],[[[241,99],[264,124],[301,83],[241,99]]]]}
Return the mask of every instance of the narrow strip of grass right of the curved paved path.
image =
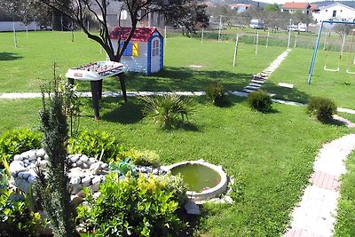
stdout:
{"type": "Polygon", "coordinates": [[[335,224],[336,237],[351,237],[355,233],[355,152],[348,157],[346,170],[340,188],[341,197],[335,224]]]}

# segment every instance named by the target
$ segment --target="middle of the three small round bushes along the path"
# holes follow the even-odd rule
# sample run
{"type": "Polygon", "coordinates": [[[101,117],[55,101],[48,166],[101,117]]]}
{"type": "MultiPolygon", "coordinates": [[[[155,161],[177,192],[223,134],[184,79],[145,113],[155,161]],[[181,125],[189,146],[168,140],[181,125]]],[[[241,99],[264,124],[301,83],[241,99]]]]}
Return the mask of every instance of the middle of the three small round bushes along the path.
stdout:
{"type": "Polygon", "coordinates": [[[248,94],[248,105],[259,112],[266,113],[272,109],[272,98],[265,91],[254,91],[248,94]]]}

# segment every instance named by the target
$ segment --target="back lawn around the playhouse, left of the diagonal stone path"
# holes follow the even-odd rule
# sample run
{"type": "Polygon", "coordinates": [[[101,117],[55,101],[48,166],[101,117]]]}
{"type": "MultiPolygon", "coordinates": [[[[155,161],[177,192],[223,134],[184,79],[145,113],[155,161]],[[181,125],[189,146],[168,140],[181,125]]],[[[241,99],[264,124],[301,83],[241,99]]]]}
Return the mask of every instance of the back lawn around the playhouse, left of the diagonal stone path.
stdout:
{"type": "MultiPolygon", "coordinates": [[[[71,42],[70,33],[30,32],[19,33],[19,48],[13,47],[11,33],[1,33],[0,71],[1,92],[40,91],[38,84],[52,77],[52,64],[58,65],[57,73],[65,75],[67,68],[106,59],[99,54],[97,43],[88,41],[82,33],[75,33],[71,42]],[[65,49],[63,51],[63,49],[65,49]]],[[[259,49],[255,55],[253,45],[241,44],[237,67],[233,67],[234,43],[201,43],[187,37],[168,38],[165,68],[161,73],[146,77],[128,75],[128,91],[203,91],[216,80],[225,84],[227,90],[239,90],[248,84],[250,76],[267,67],[283,48],[259,49]],[[193,69],[190,65],[201,65],[193,69]]],[[[105,79],[105,91],[117,91],[119,83],[105,79]]],[[[81,91],[89,91],[89,83],[80,83],[81,91]]]]}

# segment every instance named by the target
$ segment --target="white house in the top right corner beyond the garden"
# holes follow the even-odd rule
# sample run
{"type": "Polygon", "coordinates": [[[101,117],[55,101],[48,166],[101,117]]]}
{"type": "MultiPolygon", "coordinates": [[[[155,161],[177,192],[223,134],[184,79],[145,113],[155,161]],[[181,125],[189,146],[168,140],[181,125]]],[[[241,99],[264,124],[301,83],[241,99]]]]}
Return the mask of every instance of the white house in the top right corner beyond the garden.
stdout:
{"type": "Polygon", "coordinates": [[[346,20],[355,21],[355,9],[339,3],[320,6],[319,12],[313,12],[313,19],[322,20],[346,20]]]}

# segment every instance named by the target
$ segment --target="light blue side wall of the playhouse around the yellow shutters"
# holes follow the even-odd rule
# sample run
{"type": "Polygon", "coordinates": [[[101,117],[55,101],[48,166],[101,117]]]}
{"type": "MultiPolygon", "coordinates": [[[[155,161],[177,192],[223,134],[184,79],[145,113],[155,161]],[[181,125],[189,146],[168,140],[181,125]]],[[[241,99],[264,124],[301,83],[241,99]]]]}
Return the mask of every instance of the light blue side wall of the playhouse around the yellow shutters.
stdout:
{"type": "MultiPolygon", "coordinates": [[[[114,51],[117,51],[118,40],[112,40],[114,51]]],[[[137,43],[137,42],[131,42],[137,43]]],[[[146,42],[139,43],[139,56],[122,56],[121,63],[130,72],[147,73],[147,45],[146,42]]]]}

